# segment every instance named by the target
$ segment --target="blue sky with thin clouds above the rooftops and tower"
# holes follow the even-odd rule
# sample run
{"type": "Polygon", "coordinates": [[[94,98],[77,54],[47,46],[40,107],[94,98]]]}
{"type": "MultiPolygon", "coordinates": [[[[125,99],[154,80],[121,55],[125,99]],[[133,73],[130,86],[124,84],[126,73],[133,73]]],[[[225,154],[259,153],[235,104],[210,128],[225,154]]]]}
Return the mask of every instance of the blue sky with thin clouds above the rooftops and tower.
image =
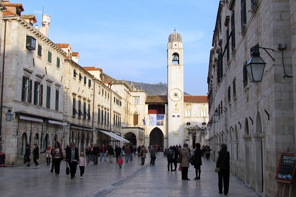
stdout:
{"type": "Polygon", "coordinates": [[[69,43],[80,66],[114,79],[167,83],[167,43],[180,33],[184,92],[207,95],[208,66],[219,0],[10,0],[22,14],[49,15],[48,37],[69,43]],[[41,12],[41,13],[40,13],[41,12]]]}

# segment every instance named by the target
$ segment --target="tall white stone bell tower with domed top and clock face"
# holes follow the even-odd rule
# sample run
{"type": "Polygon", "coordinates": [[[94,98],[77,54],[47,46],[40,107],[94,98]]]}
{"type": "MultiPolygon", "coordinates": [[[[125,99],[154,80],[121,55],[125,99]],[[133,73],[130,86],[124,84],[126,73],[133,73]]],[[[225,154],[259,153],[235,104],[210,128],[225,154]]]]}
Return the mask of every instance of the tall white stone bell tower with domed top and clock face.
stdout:
{"type": "Polygon", "coordinates": [[[168,68],[168,145],[184,143],[184,65],[182,37],[174,30],[169,35],[168,68]]]}

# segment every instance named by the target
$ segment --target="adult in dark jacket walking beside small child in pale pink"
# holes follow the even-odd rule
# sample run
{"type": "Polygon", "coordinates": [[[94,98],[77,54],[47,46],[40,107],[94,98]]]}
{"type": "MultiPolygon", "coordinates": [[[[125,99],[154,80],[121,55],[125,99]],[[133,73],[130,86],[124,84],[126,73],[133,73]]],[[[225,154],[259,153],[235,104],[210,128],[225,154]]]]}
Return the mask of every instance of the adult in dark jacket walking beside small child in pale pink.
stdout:
{"type": "Polygon", "coordinates": [[[77,164],[79,164],[79,153],[74,142],[70,143],[70,147],[70,149],[66,150],[66,160],[70,167],[71,179],[73,179],[76,174],[77,164]]]}

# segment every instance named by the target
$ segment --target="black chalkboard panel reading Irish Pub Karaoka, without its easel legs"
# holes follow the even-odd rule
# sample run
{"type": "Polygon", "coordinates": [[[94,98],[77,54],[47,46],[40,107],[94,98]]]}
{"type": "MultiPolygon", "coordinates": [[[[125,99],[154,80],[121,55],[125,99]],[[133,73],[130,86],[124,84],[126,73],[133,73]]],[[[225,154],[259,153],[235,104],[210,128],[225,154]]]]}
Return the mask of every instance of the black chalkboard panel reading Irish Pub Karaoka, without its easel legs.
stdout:
{"type": "Polygon", "coordinates": [[[295,154],[282,153],[276,172],[275,180],[293,183],[296,171],[296,157],[295,154]]]}

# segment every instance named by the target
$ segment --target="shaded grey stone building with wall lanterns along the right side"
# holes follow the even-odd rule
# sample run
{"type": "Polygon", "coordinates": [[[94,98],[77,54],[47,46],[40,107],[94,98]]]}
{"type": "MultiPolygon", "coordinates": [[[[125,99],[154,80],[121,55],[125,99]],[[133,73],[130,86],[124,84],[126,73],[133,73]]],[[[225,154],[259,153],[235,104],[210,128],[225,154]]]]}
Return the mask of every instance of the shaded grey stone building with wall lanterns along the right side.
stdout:
{"type": "Polygon", "coordinates": [[[294,15],[293,0],[222,0],[210,52],[210,144],[227,144],[231,173],[264,197],[276,194],[281,153],[295,153],[294,15]],[[257,44],[266,65],[252,83],[246,63],[257,44]]]}

